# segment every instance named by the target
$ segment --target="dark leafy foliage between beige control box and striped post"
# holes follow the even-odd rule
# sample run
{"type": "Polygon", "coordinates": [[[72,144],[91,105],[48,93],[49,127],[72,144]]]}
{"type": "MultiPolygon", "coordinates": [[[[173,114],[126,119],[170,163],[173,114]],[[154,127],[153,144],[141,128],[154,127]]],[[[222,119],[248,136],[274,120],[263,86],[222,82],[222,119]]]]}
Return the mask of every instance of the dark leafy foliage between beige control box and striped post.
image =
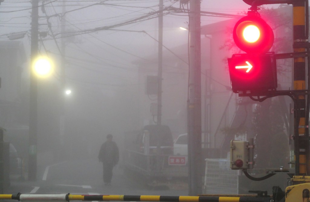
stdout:
{"type": "MultiPolygon", "coordinates": [[[[267,101],[267,102],[266,102],[267,101]]],[[[252,120],[255,132],[256,167],[278,168],[289,162],[288,137],[279,101],[256,105],[252,120]]]]}

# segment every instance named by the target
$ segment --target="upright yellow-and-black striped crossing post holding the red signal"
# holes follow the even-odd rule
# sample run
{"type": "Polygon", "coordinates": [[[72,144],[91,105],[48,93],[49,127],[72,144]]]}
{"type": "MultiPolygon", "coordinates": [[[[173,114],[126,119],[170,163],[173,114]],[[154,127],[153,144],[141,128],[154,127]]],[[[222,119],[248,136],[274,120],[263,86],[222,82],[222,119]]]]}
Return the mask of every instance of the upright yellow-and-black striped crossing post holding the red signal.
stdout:
{"type": "MultiPolygon", "coordinates": [[[[305,43],[305,2],[293,4],[293,39],[294,44],[305,43]]],[[[294,52],[304,52],[305,48],[294,47],[294,52]]],[[[306,89],[306,65],[305,58],[294,58],[294,90],[306,89]]],[[[309,141],[305,137],[305,96],[299,96],[294,107],[294,154],[295,154],[295,175],[306,175],[307,155],[309,141]]],[[[308,124],[307,124],[308,125],[308,124]]]]}

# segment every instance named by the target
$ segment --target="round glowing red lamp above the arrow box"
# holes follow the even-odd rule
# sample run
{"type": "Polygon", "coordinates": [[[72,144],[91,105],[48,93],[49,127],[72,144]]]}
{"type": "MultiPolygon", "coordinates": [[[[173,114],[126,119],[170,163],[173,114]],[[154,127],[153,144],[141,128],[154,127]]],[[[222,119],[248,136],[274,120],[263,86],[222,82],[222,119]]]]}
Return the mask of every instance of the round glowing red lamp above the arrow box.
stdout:
{"type": "Polygon", "coordinates": [[[256,12],[241,18],[232,36],[236,45],[247,53],[268,52],[274,41],[271,27],[256,12]]]}

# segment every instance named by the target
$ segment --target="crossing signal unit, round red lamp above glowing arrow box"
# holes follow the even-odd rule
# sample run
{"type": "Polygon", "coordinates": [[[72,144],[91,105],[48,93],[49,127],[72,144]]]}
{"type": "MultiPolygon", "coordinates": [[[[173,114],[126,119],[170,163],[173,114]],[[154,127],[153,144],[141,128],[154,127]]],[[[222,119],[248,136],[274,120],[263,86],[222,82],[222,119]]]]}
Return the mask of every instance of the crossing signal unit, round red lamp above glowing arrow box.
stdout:
{"type": "Polygon", "coordinates": [[[276,58],[268,52],[274,41],[271,27],[257,11],[249,11],[237,21],[232,35],[237,47],[246,52],[228,58],[232,91],[263,96],[276,90],[276,58]]]}

